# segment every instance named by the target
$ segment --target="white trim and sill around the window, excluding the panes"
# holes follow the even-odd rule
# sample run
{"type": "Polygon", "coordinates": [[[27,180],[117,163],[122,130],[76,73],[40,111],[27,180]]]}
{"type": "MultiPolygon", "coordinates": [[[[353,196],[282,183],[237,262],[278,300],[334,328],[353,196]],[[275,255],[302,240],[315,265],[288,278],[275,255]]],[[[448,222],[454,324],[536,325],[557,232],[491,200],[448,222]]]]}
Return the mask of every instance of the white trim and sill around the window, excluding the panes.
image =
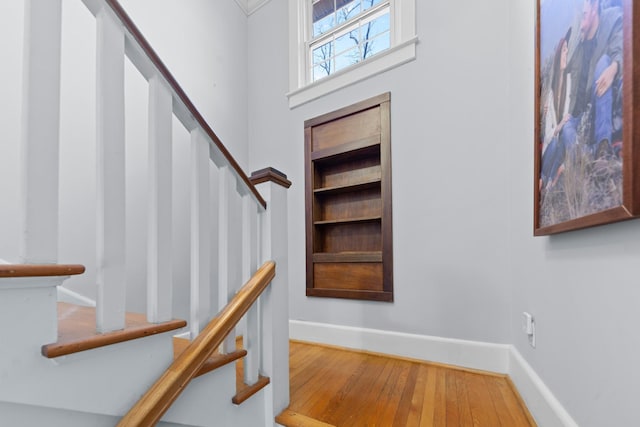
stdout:
{"type": "Polygon", "coordinates": [[[309,49],[311,2],[289,0],[289,108],[294,108],[416,57],[416,0],[390,0],[391,47],[365,61],[311,82],[309,49]]]}

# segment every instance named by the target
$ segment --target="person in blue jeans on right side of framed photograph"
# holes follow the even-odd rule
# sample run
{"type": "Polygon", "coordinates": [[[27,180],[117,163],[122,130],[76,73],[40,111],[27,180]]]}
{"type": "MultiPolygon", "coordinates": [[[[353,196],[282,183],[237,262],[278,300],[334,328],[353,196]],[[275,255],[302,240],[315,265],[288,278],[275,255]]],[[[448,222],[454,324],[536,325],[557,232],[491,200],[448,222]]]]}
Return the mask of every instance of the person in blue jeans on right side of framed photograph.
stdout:
{"type": "Polygon", "coordinates": [[[573,77],[570,118],[560,133],[560,141],[572,149],[578,132],[587,152],[600,157],[611,151],[614,99],[622,82],[622,10],[602,8],[601,0],[584,0],[580,41],[569,61],[573,77]],[[616,91],[616,93],[614,93],[616,91]],[[587,122],[580,129],[581,122],[587,122]]]}

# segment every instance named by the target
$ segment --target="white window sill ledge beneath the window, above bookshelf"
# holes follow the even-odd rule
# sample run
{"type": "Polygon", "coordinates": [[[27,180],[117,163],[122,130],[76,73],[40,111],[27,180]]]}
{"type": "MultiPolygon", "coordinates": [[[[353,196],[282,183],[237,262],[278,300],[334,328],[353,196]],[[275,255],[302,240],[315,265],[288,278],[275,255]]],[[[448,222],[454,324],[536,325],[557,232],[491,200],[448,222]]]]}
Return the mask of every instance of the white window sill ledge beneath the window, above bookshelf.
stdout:
{"type": "Polygon", "coordinates": [[[287,94],[289,98],[289,108],[298,107],[321,96],[342,89],[343,87],[413,61],[416,58],[417,43],[418,37],[415,36],[364,62],[289,92],[287,94]]]}

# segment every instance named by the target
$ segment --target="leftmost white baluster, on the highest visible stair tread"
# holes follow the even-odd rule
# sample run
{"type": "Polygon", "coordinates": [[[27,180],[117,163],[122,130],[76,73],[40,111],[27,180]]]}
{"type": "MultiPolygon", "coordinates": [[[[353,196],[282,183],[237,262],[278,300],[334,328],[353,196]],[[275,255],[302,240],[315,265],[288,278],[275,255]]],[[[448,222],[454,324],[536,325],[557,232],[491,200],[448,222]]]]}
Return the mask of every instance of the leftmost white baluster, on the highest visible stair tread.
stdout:
{"type": "Polygon", "coordinates": [[[61,0],[24,3],[23,263],[58,261],[61,0]]]}

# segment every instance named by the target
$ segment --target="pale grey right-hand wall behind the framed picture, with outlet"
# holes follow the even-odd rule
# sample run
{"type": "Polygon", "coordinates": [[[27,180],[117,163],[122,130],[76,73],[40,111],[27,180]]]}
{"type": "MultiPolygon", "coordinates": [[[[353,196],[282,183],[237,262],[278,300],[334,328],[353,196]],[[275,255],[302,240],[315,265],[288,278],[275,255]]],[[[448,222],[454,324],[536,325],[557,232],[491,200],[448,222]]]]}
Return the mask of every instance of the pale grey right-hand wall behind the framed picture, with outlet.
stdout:
{"type": "Polygon", "coordinates": [[[532,237],[535,2],[509,5],[513,341],[578,425],[640,425],[640,221],[532,237]],[[535,350],[520,331],[525,310],[536,317],[535,350]]]}

